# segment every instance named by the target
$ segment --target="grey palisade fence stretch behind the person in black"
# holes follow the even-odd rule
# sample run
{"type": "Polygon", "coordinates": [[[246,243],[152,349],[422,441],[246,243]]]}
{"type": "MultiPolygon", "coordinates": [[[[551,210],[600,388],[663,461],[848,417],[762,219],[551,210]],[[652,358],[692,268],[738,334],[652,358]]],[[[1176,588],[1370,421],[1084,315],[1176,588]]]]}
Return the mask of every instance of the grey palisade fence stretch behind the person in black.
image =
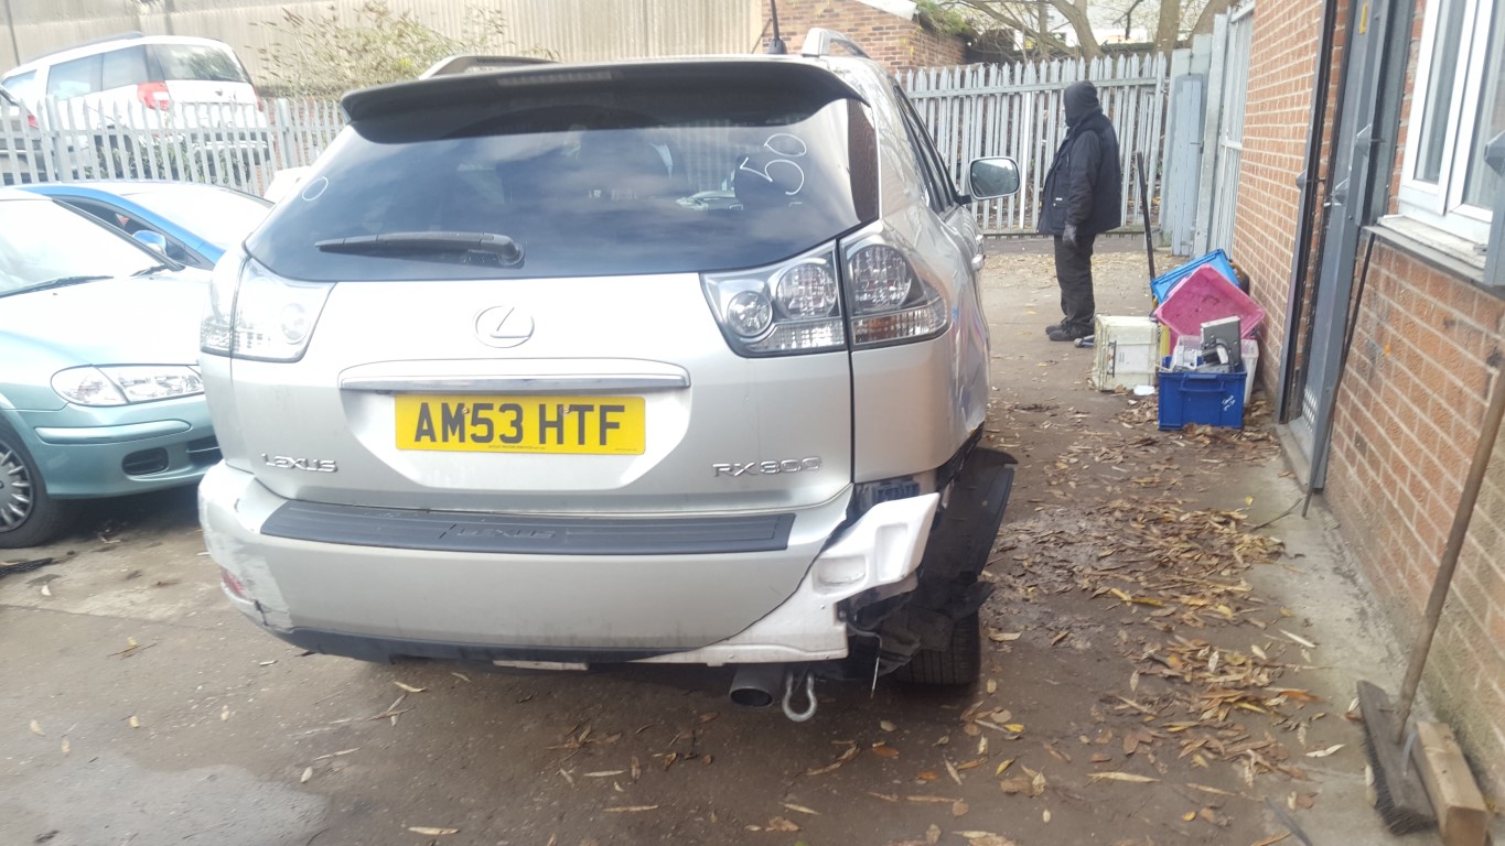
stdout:
{"type": "Polygon", "coordinates": [[[1142,152],[1153,215],[1160,176],[1160,131],[1165,120],[1168,63],[1163,56],[1114,56],[921,68],[900,77],[920,116],[930,128],[951,177],[974,158],[1010,156],[1019,162],[1022,186],[1013,197],[975,204],[977,221],[989,234],[1034,231],[1040,192],[1055,150],[1066,137],[1066,86],[1091,80],[1103,111],[1118,134],[1123,164],[1123,221],[1141,228],[1135,153],[1142,152]]]}

